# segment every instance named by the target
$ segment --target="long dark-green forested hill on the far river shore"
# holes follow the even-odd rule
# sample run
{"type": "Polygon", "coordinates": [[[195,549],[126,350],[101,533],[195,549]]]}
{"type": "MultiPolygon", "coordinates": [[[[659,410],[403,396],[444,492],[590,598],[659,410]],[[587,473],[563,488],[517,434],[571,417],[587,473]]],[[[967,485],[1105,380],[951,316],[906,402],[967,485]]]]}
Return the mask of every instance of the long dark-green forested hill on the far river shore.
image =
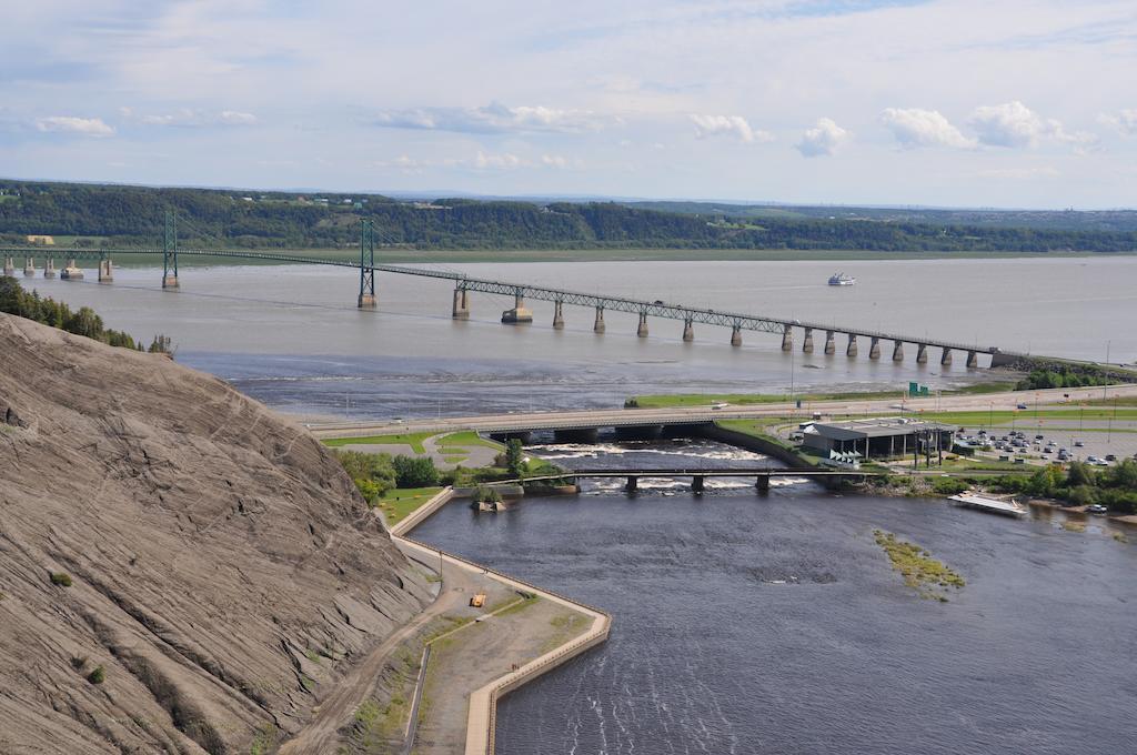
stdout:
{"type": "Polygon", "coordinates": [[[65,243],[155,244],[166,210],[176,213],[183,244],[215,247],[345,248],[357,242],[359,221],[370,218],[383,243],[417,249],[1137,250],[1132,213],[1088,221],[1085,215],[1096,214],[399,201],[377,194],[0,181],[0,240],[7,243],[51,234],[65,243]]]}

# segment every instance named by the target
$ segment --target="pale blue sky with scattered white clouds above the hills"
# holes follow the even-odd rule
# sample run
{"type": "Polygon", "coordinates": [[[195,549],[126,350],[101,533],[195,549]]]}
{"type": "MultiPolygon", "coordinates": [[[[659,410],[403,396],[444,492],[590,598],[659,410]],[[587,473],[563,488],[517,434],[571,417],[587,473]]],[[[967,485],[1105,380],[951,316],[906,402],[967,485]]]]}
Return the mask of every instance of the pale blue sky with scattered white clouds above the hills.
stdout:
{"type": "Polygon", "coordinates": [[[0,0],[0,176],[1137,207],[1134,0],[0,0]]]}

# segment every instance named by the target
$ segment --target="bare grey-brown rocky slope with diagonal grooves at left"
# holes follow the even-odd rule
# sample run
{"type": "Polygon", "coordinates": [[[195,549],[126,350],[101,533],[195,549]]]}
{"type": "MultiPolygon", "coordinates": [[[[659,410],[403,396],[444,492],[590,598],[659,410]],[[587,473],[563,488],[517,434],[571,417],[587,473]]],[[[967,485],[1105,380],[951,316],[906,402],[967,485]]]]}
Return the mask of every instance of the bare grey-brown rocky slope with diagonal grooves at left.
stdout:
{"type": "Polygon", "coordinates": [[[268,752],[428,600],[306,431],[0,315],[0,752],[268,752]]]}

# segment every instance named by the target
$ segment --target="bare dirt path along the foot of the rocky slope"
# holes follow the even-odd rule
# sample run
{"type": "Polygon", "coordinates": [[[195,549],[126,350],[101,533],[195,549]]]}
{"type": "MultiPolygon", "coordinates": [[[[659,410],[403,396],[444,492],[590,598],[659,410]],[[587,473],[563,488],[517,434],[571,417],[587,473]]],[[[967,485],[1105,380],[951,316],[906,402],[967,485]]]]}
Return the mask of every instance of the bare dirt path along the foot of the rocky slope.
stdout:
{"type": "Polygon", "coordinates": [[[447,587],[434,603],[408,624],[387,637],[347,677],[334,683],[327,697],[319,700],[316,717],[296,737],[284,742],[279,750],[281,755],[333,752],[339,740],[339,729],[351,720],[359,705],[371,695],[375,680],[382,673],[391,653],[434,619],[448,611],[465,606],[474,587],[474,581],[466,570],[449,564],[442,565],[442,583],[447,587]]]}

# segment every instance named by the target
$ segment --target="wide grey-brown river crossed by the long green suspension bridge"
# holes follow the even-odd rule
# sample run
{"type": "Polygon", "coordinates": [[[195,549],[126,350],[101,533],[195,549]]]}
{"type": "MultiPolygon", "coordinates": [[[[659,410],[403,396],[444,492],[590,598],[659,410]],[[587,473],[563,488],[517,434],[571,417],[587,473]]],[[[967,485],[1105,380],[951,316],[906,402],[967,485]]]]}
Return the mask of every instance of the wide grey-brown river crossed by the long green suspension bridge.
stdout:
{"type": "MultiPolygon", "coordinates": [[[[999,346],[1068,357],[1137,357],[1137,257],[868,262],[609,262],[471,264],[468,275],[587,292],[879,329],[913,337],[999,346]],[[825,285],[835,266],[854,287],[825,285]]],[[[567,308],[554,331],[551,306],[530,302],[536,322],[505,326],[500,297],[473,294],[473,320],[450,320],[445,281],[380,274],[379,312],[355,308],[358,276],[310,266],[218,266],[182,271],[182,290],[163,292],[152,268],[118,268],[113,285],[93,271],[83,282],[27,281],[42,293],[94,307],[111,327],[149,341],[173,337],[179,359],[231,380],[273,406],[307,414],[365,417],[460,415],[619,405],[632,393],[788,392],[791,388],[933,389],[981,379],[963,359],[943,368],[938,354],[916,365],[779,349],[778,335],[744,333],[730,348],[721,327],[567,308]]],[[[798,333],[800,338],[800,333],[798,333]]],[[[799,347],[799,343],[796,345],[799,347]]]]}

